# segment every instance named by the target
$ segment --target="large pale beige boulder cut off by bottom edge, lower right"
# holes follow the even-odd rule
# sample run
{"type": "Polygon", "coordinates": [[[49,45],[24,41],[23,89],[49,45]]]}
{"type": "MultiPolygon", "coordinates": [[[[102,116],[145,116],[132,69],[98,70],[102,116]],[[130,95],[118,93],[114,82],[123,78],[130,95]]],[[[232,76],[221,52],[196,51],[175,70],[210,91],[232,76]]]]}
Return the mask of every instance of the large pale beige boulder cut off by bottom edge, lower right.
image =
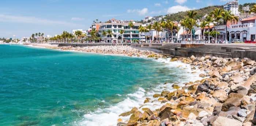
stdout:
{"type": "Polygon", "coordinates": [[[242,123],[235,119],[229,119],[226,117],[218,117],[213,122],[212,126],[242,126],[242,123]]]}

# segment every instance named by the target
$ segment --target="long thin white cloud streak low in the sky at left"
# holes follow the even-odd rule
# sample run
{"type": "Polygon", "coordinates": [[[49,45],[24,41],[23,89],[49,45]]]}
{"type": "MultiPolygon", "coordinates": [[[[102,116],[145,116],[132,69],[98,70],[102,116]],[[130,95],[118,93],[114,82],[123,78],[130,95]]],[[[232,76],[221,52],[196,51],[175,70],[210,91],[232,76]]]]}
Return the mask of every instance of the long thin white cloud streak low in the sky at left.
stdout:
{"type": "Polygon", "coordinates": [[[83,27],[83,25],[69,23],[66,21],[54,21],[48,19],[39,19],[36,17],[26,16],[12,16],[0,14],[0,22],[15,22],[15,23],[29,23],[29,24],[40,24],[40,25],[69,25],[75,27],[83,27]]]}

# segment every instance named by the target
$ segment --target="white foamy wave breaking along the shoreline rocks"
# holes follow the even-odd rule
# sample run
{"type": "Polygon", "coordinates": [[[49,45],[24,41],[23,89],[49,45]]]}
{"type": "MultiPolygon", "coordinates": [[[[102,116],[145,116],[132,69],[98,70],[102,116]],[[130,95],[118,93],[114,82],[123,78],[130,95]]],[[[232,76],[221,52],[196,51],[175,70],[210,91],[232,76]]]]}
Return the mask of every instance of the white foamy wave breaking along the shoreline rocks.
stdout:
{"type": "MultiPolygon", "coordinates": [[[[146,57],[144,57],[146,58],[146,57]]],[[[180,87],[184,86],[185,82],[201,80],[202,78],[199,77],[200,73],[204,73],[203,71],[196,69],[191,70],[191,66],[188,64],[184,64],[181,61],[170,62],[171,58],[159,58],[158,60],[153,60],[155,62],[165,63],[164,67],[169,68],[177,68],[179,72],[177,72],[177,83],[180,87]],[[186,69],[184,69],[186,68],[186,69]],[[193,73],[192,72],[196,72],[193,73]],[[181,76],[183,78],[181,78],[181,76]],[[184,79],[185,78],[185,79],[184,79]]],[[[91,113],[87,113],[83,115],[83,119],[80,121],[73,122],[74,126],[93,126],[93,125],[100,125],[100,126],[116,126],[117,119],[121,118],[123,121],[128,121],[130,116],[127,117],[119,117],[121,113],[130,111],[133,107],[137,107],[142,111],[142,108],[149,108],[151,110],[159,109],[162,105],[166,103],[161,103],[157,101],[157,98],[153,98],[154,94],[161,94],[162,90],[169,90],[170,92],[174,91],[172,88],[171,83],[168,84],[160,84],[154,88],[149,89],[146,91],[143,88],[138,88],[138,91],[135,93],[130,93],[125,95],[126,98],[124,101],[117,103],[116,105],[110,106],[105,109],[97,109],[91,113]],[[147,102],[144,103],[146,98],[151,98],[154,102],[147,102]],[[140,107],[143,106],[143,107],[140,107]]],[[[120,94],[116,94],[120,95],[120,94]]]]}

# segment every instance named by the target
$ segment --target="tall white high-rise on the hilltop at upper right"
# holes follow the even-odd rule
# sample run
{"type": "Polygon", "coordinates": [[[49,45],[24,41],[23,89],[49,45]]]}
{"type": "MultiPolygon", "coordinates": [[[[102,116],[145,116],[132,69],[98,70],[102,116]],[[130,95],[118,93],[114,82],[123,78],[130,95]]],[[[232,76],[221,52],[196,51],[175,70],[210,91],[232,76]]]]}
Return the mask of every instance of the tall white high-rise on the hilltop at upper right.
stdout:
{"type": "Polygon", "coordinates": [[[238,6],[239,6],[238,0],[233,0],[224,5],[224,10],[231,11],[232,14],[238,16],[239,15],[238,6]]]}

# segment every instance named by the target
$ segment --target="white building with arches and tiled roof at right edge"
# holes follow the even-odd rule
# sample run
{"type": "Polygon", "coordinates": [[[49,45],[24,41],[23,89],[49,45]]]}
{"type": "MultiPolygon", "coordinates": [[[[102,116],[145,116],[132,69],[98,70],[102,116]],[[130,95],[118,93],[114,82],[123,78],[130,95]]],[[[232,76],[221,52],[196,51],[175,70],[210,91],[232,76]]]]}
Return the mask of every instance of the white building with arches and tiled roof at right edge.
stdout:
{"type": "Polygon", "coordinates": [[[243,19],[227,28],[227,40],[256,41],[256,16],[243,19]]]}

